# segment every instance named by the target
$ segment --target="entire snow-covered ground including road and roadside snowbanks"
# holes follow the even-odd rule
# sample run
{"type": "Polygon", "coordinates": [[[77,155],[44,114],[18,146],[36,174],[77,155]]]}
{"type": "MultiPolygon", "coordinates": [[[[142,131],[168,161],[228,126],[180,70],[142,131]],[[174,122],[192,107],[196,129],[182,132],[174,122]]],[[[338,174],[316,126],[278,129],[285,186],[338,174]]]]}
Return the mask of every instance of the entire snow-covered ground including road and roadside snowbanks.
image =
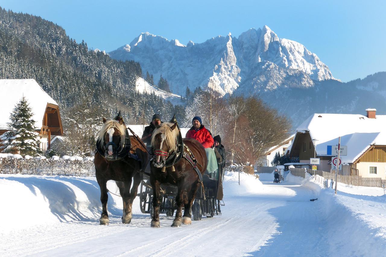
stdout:
{"type": "Polygon", "coordinates": [[[227,172],[222,216],[172,228],[161,215],[154,229],[138,197],[132,223],[122,224],[122,200],[111,194],[110,224],[99,225],[93,177],[0,174],[0,256],[384,256],[383,189],[338,187],[335,196],[291,174],[280,184],[241,174],[239,186],[227,172]]]}

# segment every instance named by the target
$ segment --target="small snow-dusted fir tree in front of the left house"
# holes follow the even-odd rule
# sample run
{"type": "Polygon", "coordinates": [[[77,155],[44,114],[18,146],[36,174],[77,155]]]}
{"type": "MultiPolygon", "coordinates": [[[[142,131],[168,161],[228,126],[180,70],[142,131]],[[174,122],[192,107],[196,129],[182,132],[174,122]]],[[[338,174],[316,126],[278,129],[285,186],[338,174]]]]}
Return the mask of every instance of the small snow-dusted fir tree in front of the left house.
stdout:
{"type": "Polygon", "coordinates": [[[39,148],[39,133],[36,132],[39,128],[35,127],[32,116],[27,99],[22,97],[10,115],[9,130],[0,137],[2,152],[20,152],[21,155],[32,156],[42,154],[39,148]]]}

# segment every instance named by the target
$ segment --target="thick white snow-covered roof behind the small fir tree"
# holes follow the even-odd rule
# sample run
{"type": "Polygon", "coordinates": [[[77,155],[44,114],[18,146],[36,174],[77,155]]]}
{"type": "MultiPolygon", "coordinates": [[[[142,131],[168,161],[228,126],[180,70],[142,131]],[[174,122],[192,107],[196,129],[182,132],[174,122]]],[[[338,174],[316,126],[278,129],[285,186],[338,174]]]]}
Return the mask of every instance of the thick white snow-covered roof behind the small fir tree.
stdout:
{"type": "Polygon", "coordinates": [[[34,79],[0,79],[0,129],[8,129],[9,116],[15,105],[24,96],[32,108],[35,126],[41,127],[47,103],[58,105],[34,79]]]}

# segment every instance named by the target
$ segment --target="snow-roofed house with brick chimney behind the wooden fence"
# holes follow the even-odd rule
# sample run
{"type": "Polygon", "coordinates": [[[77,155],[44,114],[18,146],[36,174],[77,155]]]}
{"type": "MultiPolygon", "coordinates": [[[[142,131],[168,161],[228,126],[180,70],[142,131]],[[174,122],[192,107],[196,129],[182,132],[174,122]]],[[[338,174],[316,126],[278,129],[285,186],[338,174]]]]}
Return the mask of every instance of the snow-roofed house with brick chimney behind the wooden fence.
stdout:
{"type": "Polygon", "coordinates": [[[366,109],[367,115],[315,113],[297,129],[289,157],[299,157],[301,163],[320,158],[318,170],[330,171],[331,147],[347,146],[347,155],[340,156],[339,174],[380,177],[386,179],[386,115],[376,115],[376,109],[366,109]]]}

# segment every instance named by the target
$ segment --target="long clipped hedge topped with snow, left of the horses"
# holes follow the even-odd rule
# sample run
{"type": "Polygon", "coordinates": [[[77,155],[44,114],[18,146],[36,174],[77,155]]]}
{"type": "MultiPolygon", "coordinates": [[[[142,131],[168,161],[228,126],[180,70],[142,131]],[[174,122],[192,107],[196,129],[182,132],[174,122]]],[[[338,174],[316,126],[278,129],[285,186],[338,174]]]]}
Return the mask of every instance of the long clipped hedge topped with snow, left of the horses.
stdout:
{"type": "Polygon", "coordinates": [[[93,157],[64,155],[62,158],[44,156],[24,158],[19,154],[0,154],[0,173],[34,175],[95,176],[93,157]]]}

